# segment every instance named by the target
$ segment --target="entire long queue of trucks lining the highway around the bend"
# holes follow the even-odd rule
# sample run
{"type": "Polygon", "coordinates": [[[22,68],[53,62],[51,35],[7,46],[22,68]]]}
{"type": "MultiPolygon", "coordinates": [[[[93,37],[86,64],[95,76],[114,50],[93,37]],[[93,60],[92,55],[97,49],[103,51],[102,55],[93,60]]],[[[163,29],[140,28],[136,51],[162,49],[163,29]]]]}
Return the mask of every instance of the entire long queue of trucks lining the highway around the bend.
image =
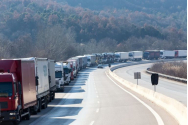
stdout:
{"type": "Polygon", "coordinates": [[[146,50],[95,53],[55,62],[47,58],[0,60],[0,122],[29,120],[47,108],[55,92],[77,77],[80,70],[101,63],[140,61],[142,59],[186,58],[187,50],[146,50]]]}

